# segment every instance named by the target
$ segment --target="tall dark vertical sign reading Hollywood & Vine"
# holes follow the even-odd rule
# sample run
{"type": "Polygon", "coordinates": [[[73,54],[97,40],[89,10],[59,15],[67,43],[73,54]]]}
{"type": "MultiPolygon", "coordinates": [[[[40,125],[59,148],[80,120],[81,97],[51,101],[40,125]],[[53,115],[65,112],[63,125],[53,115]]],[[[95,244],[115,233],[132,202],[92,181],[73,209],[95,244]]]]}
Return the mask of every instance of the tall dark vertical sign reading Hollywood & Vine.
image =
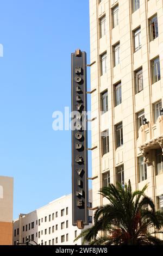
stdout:
{"type": "Polygon", "coordinates": [[[72,224],[88,224],[86,53],[71,54],[72,224]]]}

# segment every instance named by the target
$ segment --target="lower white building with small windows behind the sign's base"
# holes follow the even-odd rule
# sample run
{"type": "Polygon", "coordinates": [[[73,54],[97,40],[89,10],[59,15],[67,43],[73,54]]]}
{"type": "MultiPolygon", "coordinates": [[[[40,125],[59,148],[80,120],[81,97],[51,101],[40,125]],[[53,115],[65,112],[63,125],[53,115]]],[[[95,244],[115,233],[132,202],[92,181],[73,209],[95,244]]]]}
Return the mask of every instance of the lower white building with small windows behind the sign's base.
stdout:
{"type": "MultiPolygon", "coordinates": [[[[89,191],[92,202],[92,191],[89,191]]],[[[89,204],[91,207],[91,204],[89,204]]],[[[89,210],[90,227],[92,211],[89,210]]],[[[29,214],[20,214],[13,222],[13,245],[26,242],[27,236],[41,245],[81,245],[82,239],[73,242],[81,230],[72,225],[72,194],[60,197],[29,214]]],[[[33,243],[33,242],[31,242],[33,243]]]]}

